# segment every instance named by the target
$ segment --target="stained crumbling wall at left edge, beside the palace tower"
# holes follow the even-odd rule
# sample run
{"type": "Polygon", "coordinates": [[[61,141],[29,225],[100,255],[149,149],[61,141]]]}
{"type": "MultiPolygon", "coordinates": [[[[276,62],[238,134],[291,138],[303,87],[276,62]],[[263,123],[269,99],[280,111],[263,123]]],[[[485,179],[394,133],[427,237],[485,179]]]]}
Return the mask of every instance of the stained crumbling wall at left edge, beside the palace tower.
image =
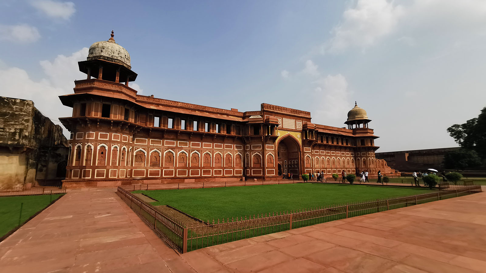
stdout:
{"type": "Polygon", "coordinates": [[[42,115],[34,102],[0,97],[0,190],[39,185],[37,179],[46,185],[62,180],[56,169],[67,160],[68,151],[62,128],[42,115]]]}

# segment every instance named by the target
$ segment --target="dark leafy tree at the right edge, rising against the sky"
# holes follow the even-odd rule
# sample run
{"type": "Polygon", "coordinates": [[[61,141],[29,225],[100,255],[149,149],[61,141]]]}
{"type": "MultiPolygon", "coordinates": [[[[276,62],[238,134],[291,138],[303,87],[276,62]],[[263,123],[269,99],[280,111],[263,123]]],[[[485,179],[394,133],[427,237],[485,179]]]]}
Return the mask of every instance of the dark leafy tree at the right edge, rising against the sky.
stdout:
{"type": "Polygon", "coordinates": [[[486,158],[486,107],[477,118],[469,119],[463,124],[454,124],[447,128],[447,132],[461,147],[486,158]]]}

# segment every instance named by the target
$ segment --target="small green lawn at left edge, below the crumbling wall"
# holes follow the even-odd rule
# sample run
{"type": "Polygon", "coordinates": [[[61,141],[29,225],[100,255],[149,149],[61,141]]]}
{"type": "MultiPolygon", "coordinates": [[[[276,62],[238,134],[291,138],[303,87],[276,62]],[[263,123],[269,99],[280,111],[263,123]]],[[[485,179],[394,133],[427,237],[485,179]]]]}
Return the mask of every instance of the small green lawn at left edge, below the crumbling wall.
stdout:
{"type": "Polygon", "coordinates": [[[20,223],[23,223],[49,205],[51,198],[54,201],[61,196],[62,194],[0,197],[0,237],[17,227],[21,203],[23,205],[20,223]]]}

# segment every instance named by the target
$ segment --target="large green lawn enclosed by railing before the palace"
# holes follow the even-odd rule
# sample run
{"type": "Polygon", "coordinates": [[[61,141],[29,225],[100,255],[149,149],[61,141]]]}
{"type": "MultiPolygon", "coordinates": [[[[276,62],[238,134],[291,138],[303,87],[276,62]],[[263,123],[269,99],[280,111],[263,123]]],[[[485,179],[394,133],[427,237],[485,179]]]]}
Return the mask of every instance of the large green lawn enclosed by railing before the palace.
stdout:
{"type": "Polygon", "coordinates": [[[360,202],[385,197],[427,193],[425,188],[387,188],[364,185],[322,185],[311,183],[199,188],[170,190],[138,190],[160,202],[171,205],[204,221],[244,217],[291,209],[313,208],[360,202]]]}

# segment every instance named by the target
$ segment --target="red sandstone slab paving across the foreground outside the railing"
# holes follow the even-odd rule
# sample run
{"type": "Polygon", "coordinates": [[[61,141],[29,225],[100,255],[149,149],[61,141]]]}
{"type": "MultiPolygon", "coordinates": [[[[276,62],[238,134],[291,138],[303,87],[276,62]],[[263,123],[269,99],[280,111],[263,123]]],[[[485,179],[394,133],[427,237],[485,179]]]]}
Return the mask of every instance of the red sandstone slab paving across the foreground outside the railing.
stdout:
{"type": "Polygon", "coordinates": [[[179,256],[114,189],[72,190],[0,243],[3,272],[486,273],[486,192],[179,256]]]}

